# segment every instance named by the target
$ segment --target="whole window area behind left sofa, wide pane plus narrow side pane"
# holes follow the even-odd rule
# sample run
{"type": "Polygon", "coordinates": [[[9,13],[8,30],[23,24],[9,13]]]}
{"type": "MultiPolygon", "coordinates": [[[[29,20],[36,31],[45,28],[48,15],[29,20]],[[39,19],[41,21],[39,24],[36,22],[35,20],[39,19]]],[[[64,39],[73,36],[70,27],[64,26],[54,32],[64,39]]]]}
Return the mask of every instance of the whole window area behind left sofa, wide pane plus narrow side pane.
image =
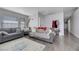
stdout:
{"type": "Polygon", "coordinates": [[[12,16],[0,16],[0,28],[19,28],[24,29],[25,20],[12,16]]]}

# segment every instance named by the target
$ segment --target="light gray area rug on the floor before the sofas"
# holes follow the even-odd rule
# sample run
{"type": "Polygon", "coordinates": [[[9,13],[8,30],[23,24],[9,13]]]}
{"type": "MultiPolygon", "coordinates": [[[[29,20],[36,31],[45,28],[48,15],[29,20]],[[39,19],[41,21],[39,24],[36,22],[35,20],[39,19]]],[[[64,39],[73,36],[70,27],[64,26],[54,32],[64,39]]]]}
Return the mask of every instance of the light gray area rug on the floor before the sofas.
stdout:
{"type": "Polygon", "coordinates": [[[45,45],[25,37],[0,44],[0,51],[42,51],[44,48],[45,45]]]}

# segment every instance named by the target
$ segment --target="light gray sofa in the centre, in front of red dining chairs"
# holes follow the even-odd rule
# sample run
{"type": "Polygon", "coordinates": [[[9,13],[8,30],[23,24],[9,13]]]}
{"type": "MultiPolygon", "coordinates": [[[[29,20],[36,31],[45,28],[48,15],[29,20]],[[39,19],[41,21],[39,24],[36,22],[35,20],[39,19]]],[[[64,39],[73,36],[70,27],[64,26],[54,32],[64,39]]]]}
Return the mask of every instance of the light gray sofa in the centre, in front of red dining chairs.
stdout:
{"type": "Polygon", "coordinates": [[[33,38],[38,38],[40,40],[43,40],[49,43],[53,43],[56,33],[51,32],[48,34],[48,33],[30,32],[29,36],[33,38]]]}

